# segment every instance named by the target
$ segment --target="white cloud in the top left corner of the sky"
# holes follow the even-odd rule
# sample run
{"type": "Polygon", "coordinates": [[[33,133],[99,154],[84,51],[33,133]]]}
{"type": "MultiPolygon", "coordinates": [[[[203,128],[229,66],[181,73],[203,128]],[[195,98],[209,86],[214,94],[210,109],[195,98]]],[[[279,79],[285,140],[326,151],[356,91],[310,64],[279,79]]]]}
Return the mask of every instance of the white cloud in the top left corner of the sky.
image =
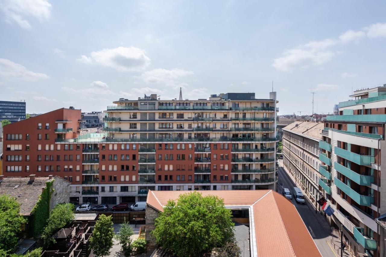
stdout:
{"type": "Polygon", "coordinates": [[[51,3],[47,0],[3,0],[0,10],[8,23],[16,23],[23,29],[30,29],[27,17],[38,19],[40,22],[51,15],[51,3]]]}

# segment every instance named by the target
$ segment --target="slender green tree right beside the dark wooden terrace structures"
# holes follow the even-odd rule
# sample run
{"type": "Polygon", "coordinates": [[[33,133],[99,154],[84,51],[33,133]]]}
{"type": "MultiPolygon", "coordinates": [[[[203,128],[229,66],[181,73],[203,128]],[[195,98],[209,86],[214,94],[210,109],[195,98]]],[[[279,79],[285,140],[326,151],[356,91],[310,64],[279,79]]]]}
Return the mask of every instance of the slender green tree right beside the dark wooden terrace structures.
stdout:
{"type": "Polygon", "coordinates": [[[112,216],[100,215],[89,239],[90,249],[93,249],[94,255],[106,256],[110,254],[110,249],[113,247],[113,237],[112,216]]]}

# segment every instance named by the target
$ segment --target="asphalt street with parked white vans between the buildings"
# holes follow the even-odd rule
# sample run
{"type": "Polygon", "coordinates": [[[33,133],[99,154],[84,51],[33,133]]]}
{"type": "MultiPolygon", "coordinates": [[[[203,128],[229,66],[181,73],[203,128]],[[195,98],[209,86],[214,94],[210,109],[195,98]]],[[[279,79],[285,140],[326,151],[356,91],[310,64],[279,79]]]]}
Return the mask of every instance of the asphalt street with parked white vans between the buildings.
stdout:
{"type": "MultiPolygon", "coordinates": [[[[283,184],[284,188],[288,188],[289,191],[292,192],[292,188],[295,186],[292,179],[289,178],[287,173],[284,171],[282,164],[283,162],[279,162],[279,184],[278,184],[278,193],[281,194],[282,186],[283,184]]],[[[340,256],[340,251],[338,255],[338,245],[340,242],[340,239],[337,238],[337,235],[334,236],[334,243],[331,243],[332,237],[331,237],[331,228],[328,224],[328,222],[320,215],[320,212],[318,214],[315,214],[315,210],[310,210],[306,204],[300,204],[295,201],[294,198],[292,198],[292,203],[295,205],[296,210],[298,210],[301,218],[303,219],[303,222],[305,223],[306,227],[308,228],[308,231],[310,232],[313,240],[315,241],[315,244],[317,245],[320,253],[323,257],[338,257],[340,256]]],[[[351,256],[347,251],[344,252],[343,256],[351,256]]]]}

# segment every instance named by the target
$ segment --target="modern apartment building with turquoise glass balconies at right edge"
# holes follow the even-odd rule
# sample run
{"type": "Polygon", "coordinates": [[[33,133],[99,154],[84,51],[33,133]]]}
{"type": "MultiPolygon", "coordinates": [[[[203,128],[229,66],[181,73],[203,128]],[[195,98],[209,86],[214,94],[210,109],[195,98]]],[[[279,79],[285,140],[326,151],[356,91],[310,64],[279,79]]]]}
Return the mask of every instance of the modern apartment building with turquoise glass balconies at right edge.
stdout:
{"type": "Polygon", "coordinates": [[[386,86],[357,90],[350,97],[354,100],[339,103],[339,115],[325,120],[319,144],[325,178],[319,185],[335,210],[332,225],[344,225],[349,250],[384,256],[384,230],[375,219],[386,212],[381,176],[386,86]]]}

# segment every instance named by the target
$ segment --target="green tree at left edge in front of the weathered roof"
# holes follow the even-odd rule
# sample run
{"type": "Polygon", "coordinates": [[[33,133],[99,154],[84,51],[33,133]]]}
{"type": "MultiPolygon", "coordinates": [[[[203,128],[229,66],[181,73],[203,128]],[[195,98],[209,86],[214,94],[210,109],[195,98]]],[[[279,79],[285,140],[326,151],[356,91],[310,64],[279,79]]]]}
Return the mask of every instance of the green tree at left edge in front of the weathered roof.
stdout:
{"type": "Polygon", "coordinates": [[[14,252],[22,225],[27,220],[19,214],[20,205],[11,196],[0,196],[0,249],[14,252]]]}

